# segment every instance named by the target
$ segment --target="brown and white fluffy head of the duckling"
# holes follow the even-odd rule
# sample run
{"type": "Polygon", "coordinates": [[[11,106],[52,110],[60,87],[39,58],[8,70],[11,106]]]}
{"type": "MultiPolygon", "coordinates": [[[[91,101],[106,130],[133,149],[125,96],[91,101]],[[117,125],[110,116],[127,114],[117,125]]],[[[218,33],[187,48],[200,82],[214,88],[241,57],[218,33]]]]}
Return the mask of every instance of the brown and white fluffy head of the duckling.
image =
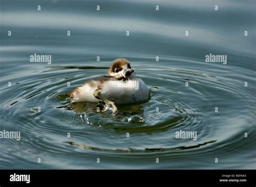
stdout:
{"type": "Polygon", "coordinates": [[[112,76],[122,75],[126,79],[134,77],[134,70],[131,68],[130,63],[126,59],[116,59],[113,61],[109,74],[112,76]]]}

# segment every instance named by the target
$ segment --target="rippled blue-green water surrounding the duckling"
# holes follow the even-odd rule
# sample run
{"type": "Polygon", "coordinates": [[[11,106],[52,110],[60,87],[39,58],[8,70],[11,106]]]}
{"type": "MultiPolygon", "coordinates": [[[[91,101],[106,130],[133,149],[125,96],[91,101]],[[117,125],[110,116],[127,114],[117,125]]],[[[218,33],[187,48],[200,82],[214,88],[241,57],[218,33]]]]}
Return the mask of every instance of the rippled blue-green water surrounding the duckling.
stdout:
{"type": "Polygon", "coordinates": [[[255,169],[253,18],[255,1],[1,1],[0,130],[21,140],[0,139],[0,168],[255,169]],[[31,63],[35,53],[52,63],[31,63]],[[205,62],[210,53],[227,64],[205,62]],[[66,103],[117,57],[148,101],[117,116],[66,103]],[[176,139],[180,130],[197,140],[176,139]]]}

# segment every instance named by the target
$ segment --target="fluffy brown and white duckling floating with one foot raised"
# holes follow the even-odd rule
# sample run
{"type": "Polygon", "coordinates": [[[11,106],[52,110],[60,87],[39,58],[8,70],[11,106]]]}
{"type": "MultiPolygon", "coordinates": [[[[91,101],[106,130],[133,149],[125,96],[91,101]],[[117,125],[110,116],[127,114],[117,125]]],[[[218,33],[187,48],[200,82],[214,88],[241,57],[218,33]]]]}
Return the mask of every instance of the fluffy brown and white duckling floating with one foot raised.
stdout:
{"type": "Polygon", "coordinates": [[[71,103],[103,102],[102,112],[112,107],[112,114],[116,115],[116,104],[130,104],[147,100],[149,89],[137,78],[130,62],[126,59],[116,59],[109,68],[109,74],[98,80],[90,80],[82,86],[68,93],[71,103]]]}

